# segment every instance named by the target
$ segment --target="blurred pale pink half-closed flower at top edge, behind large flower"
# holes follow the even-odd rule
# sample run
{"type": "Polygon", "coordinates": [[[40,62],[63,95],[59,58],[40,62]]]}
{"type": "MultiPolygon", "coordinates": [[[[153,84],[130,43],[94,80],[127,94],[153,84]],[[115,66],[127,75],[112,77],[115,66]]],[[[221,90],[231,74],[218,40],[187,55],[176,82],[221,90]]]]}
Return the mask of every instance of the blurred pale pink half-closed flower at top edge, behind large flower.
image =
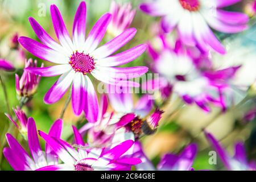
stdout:
{"type": "Polygon", "coordinates": [[[130,27],[136,10],[132,9],[131,3],[119,5],[113,0],[110,5],[109,13],[112,14],[112,20],[109,24],[108,32],[115,37],[130,27]]]}

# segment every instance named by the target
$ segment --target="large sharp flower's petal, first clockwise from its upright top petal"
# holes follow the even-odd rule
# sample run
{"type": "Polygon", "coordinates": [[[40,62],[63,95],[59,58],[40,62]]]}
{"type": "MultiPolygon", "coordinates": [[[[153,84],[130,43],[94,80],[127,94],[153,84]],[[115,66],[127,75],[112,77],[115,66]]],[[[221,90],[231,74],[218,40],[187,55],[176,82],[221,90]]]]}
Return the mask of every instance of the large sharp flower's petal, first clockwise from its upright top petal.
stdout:
{"type": "Polygon", "coordinates": [[[101,16],[101,18],[94,24],[92,30],[90,31],[88,38],[85,41],[84,51],[86,53],[93,52],[98,44],[100,44],[102,38],[104,37],[108,24],[110,23],[111,14],[106,13],[101,16]]]}

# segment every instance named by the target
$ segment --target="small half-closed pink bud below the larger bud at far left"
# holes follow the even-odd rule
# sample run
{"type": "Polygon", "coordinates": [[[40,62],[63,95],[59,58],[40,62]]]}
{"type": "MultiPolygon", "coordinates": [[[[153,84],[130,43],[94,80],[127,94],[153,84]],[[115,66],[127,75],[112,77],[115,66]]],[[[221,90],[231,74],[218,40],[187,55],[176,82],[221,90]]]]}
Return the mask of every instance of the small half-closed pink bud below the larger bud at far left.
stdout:
{"type": "Polygon", "coordinates": [[[28,120],[27,115],[19,107],[16,107],[16,109],[13,109],[13,110],[16,115],[17,121],[11,118],[10,114],[5,113],[5,115],[10,119],[11,122],[14,123],[16,128],[23,135],[23,137],[26,138],[27,137],[27,120],[28,120]]]}

